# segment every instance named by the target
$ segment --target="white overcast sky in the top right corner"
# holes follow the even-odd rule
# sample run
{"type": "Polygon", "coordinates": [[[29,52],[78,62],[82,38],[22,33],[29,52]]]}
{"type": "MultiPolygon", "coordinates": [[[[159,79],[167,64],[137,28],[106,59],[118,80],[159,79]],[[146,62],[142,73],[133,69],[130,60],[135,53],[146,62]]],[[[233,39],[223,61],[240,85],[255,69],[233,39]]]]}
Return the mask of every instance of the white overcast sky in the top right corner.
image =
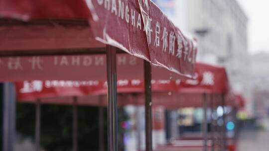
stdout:
{"type": "Polygon", "coordinates": [[[238,0],[249,17],[248,42],[251,54],[269,52],[269,0],[238,0]]]}

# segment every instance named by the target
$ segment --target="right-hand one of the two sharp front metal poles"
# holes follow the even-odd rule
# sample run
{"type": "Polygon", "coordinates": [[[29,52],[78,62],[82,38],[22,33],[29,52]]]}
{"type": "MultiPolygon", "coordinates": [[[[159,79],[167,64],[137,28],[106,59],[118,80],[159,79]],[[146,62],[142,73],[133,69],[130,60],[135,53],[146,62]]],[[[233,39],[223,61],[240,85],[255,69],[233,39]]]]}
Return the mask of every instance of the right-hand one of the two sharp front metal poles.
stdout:
{"type": "Polygon", "coordinates": [[[145,81],[145,151],[152,151],[152,129],[151,129],[151,66],[144,61],[145,81]]]}

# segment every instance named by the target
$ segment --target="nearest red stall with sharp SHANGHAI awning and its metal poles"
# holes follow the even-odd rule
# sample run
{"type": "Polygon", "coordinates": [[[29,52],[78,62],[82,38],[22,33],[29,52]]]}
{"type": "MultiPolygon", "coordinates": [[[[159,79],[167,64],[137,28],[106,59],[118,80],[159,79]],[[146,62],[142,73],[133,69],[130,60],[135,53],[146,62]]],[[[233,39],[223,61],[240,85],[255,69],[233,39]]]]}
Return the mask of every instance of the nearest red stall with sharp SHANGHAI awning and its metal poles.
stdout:
{"type": "MultiPolygon", "coordinates": [[[[0,62],[3,64],[0,80],[107,80],[110,151],[118,150],[116,54],[142,58],[144,72],[129,75],[142,75],[145,81],[146,150],[151,151],[150,64],[182,78],[192,78],[197,50],[193,39],[175,27],[151,0],[0,0],[0,3],[0,62]],[[55,55],[96,54],[106,54],[107,70],[96,67],[94,72],[86,74],[89,70],[86,67],[78,71],[68,66],[65,72],[53,68],[69,65],[68,57],[63,56],[57,62],[55,55]],[[53,66],[49,60],[53,60],[53,66]]],[[[98,61],[101,62],[95,60],[95,65],[98,61]]],[[[80,63],[91,62],[88,58],[80,63]]],[[[71,64],[78,63],[75,58],[71,64]]],[[[14,106],[8,103],[14,104],[15,98],[11,83],[4,84],[3,100],[4,129],[8,129],[3,134],[3,151],[12,151],[14,120],[10,118],[15,118],[14,106]]]]}

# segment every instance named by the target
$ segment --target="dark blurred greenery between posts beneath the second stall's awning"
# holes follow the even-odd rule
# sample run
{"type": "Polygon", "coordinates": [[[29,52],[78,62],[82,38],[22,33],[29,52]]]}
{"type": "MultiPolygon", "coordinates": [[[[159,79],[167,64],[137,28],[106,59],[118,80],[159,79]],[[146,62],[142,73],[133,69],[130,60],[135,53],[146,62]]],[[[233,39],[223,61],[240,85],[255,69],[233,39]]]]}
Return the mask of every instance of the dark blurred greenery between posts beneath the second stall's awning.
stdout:
{"type": "MultiPolygon", "coordinates": [[[[107,151],[107,110],[104,110],[104,151],[107,151]]],[[[41,105],[40,147],[45,151],[72,151],[71,105],[41,105]]],[[[78,106],[78,151],[99,151],[98,107],[78,106]]],[[[123,108],[119,109],[120,121],[128,120],[123,108]]],[[[17,103],[16,130],[21,139],[34,142],[35,105],[17,103]]],[[[119,151],[124,151],[123,132],[119,124],[119,151]]]]}

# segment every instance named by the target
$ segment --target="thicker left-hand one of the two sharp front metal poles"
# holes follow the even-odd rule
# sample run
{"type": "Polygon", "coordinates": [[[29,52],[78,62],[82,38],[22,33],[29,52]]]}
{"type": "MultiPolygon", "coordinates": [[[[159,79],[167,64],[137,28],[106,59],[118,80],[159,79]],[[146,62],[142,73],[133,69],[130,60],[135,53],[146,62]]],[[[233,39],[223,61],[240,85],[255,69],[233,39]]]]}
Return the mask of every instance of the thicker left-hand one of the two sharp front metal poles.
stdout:
{"type": "Polygon", "coordinates": [[[117,48],[107,45],[108,151],[118,151],[117,48]]]}

